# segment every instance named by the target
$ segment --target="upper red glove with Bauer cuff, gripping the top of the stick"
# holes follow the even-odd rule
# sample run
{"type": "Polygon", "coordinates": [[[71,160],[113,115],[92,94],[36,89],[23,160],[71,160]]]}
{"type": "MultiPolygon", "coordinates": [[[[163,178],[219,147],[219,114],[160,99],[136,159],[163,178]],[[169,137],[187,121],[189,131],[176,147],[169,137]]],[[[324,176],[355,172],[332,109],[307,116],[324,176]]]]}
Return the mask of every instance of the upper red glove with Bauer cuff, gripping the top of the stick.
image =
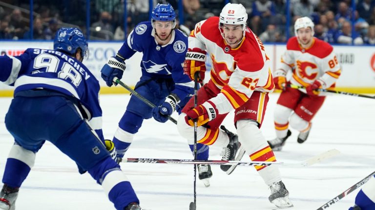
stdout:
{"type": "Polygon", "coordinates": [[[206,51],[199,48],[188,49],[184,61],[184,73],[194,80],[195,72],[199,72],[198,82],[202,83],[206,72],[206,51]]]}

